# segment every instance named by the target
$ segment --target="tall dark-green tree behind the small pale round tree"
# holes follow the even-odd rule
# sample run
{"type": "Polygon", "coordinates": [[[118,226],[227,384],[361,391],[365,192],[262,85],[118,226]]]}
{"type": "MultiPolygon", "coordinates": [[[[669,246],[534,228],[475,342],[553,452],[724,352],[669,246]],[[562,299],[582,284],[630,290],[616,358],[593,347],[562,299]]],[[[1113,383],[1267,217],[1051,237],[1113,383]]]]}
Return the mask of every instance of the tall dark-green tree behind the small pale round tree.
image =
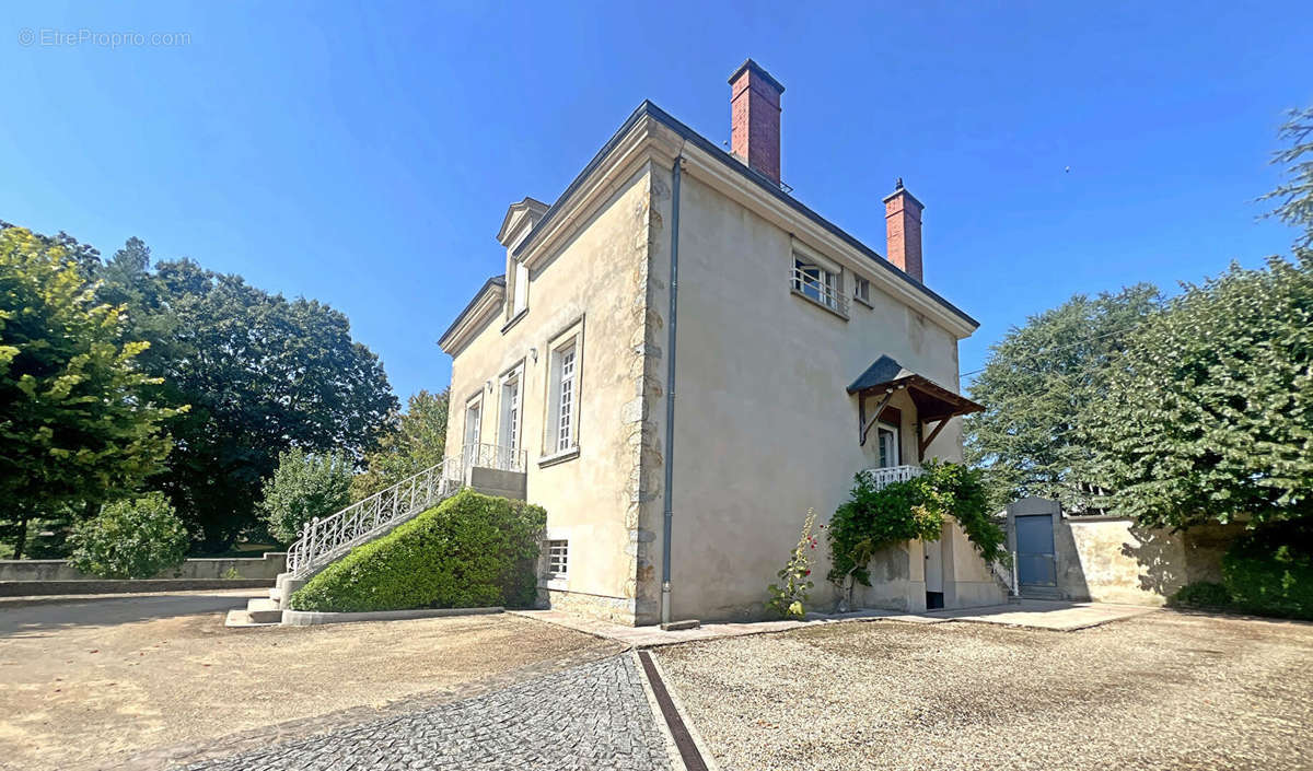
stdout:
{"type": "Polygon", "coordinates": [[[169,421],[177,448],[155,484],[183,513],[201,551],[222,551],[261,526],[256,504],[278,454],[377,447],[397,409],[378,357],[351,338],[347,317],[286,300],[180,260],[148,267],[137,239],[101,271],[101,294],[129,307],[134,334],[164,355],[143,366],[158,396],[192,410],[169,421]]]}

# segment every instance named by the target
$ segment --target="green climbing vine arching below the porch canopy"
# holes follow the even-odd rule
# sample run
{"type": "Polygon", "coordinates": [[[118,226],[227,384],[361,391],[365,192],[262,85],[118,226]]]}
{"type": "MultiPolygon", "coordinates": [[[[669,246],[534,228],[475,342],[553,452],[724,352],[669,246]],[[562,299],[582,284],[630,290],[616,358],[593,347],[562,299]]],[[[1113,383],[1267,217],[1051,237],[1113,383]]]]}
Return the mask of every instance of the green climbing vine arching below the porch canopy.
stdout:
{"type": "Polygon", "coordinates": [[[989,517],[985,484],[978,469],[930,460],[919,477],[876,489],[871,479],[853,477],[851,497],[834,513],[830,543],[830,582],[846,591],[871,586],[867,565],[880,551],[907,540],[939,540],[944,518],[957,519],[962,532],[986,563],[1006,563],[1006,534],[989,517]]]}

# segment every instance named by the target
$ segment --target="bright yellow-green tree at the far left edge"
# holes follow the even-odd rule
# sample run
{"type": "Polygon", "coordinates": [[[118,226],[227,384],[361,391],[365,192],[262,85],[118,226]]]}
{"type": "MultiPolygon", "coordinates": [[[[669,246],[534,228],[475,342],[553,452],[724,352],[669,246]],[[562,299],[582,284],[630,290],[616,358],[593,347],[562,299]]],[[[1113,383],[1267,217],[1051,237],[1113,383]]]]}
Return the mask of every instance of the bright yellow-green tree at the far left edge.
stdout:
{"type": "Polygon", "coordinates": [[[169,451],[148,347],[122,341],[121,307],[98,303],[68,250],[24,228],[0,229],[0,498],[14,559],[29,521],[133,492],[169,451]]]}

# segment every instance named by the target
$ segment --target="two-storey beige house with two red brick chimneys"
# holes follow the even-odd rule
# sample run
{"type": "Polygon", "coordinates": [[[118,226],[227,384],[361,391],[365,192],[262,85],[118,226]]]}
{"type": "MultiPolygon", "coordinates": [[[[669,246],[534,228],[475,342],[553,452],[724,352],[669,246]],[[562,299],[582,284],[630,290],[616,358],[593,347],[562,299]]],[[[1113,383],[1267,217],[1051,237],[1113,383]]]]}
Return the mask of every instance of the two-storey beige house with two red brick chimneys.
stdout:
{"type": "MultiPolygon", "coordinates": [[[[923,282],[922,203],[872,197],[880,256],[781,182],[784,87],[752,60],[730,85],[731,152],[643,102],[554,203],[512,203],[504,269],[440,340],[448,447],[546,507],[553,608],[758,618],[807,509],[960,459],[979,409],[957,393],[977,323],[923,282]]],[[[859,606],[1004,598],[956,526],[877,561],[859,606]]]]}

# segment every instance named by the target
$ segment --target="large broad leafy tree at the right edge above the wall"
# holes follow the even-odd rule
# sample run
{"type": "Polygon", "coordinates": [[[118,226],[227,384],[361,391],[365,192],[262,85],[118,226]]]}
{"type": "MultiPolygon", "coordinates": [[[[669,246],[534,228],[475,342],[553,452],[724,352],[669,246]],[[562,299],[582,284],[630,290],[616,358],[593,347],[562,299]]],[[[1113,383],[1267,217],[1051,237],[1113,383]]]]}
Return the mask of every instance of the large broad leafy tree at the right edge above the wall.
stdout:
{"type": "Polygon", "coordinates": [[[1144,524],[1313,515],[1313,250],[1187,285],[1087,416],[1091,476],[1144,524]]]}

